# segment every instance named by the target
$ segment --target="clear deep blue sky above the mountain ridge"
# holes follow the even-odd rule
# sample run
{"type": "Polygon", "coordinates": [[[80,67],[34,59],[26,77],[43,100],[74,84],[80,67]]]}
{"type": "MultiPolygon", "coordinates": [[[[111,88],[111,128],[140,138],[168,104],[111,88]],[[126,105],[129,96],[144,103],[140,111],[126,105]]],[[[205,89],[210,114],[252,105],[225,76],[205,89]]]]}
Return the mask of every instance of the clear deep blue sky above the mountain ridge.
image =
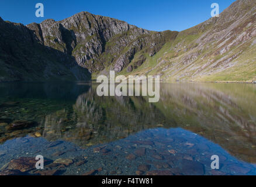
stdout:
{"type": "Polygon", "coordinates": [[[88,11],[96,15],[124,20],[148,30],[185,30],[210,18],[212,3],[220,12],[235,0],[1,0],[4,20],[27,25],[44,19],[62,20],[88,11]],[[44,18],[35,16],[36,4],[43,3],[44,18]]]}

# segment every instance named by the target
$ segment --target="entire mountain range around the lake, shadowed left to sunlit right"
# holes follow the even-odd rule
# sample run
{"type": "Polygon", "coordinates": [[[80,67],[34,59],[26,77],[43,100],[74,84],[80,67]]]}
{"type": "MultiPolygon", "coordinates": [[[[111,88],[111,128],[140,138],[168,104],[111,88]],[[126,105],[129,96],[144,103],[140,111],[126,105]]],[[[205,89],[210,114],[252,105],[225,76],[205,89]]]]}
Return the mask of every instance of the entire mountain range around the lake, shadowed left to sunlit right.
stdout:
{"type": "Polygon", "coordinates": [[[26,26],[0,18],[0,81],[86,80],[109,70],[164,81],[253,81],[255,16],[255,0],[238,0],[182,32],[88,12],[26,26]]]}

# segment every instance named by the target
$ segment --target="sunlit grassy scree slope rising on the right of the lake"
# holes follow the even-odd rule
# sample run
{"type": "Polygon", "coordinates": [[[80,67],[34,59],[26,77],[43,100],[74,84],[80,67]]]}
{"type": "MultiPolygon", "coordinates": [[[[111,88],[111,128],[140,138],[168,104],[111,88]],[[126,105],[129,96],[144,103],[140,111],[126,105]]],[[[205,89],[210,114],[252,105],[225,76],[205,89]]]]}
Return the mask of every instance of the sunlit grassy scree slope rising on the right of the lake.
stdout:
{"type": "Polygon", "coordinates": [[[179,32],[133,74],[167,81],[255,81],[256,1],[238,0],[219,18],[179,32]]]}

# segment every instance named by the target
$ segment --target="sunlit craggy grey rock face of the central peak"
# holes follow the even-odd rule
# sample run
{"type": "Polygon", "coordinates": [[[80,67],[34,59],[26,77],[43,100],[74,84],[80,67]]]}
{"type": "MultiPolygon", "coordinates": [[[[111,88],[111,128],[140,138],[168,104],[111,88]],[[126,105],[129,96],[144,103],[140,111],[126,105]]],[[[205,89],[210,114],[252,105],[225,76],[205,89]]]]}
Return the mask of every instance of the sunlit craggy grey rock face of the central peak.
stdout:
{"type": "Polygon", "coordinates": [[[146,50],[153,56],[173,34],[150,32],[88,12],[60,22],[47,19],[27,27],[34,30],[41,44],[74,56],[77,63],[90,72],[101,71],[110,64],[120,72],[138,51],[146,50]]]}

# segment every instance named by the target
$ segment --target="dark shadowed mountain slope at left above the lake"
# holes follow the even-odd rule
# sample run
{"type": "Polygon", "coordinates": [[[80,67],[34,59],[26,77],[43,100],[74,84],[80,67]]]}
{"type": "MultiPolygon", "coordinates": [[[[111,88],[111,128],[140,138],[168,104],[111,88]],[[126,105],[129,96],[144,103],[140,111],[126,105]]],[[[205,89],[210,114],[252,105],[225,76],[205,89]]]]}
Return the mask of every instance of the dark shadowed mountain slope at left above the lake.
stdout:
{"type": "Polygon", "coordinates": [[[33,26],[36,32],[0,19],[0,82],[90,78],[88,70],[79,67],[74,57],[44,46],[40,27],[33,26]]]}

